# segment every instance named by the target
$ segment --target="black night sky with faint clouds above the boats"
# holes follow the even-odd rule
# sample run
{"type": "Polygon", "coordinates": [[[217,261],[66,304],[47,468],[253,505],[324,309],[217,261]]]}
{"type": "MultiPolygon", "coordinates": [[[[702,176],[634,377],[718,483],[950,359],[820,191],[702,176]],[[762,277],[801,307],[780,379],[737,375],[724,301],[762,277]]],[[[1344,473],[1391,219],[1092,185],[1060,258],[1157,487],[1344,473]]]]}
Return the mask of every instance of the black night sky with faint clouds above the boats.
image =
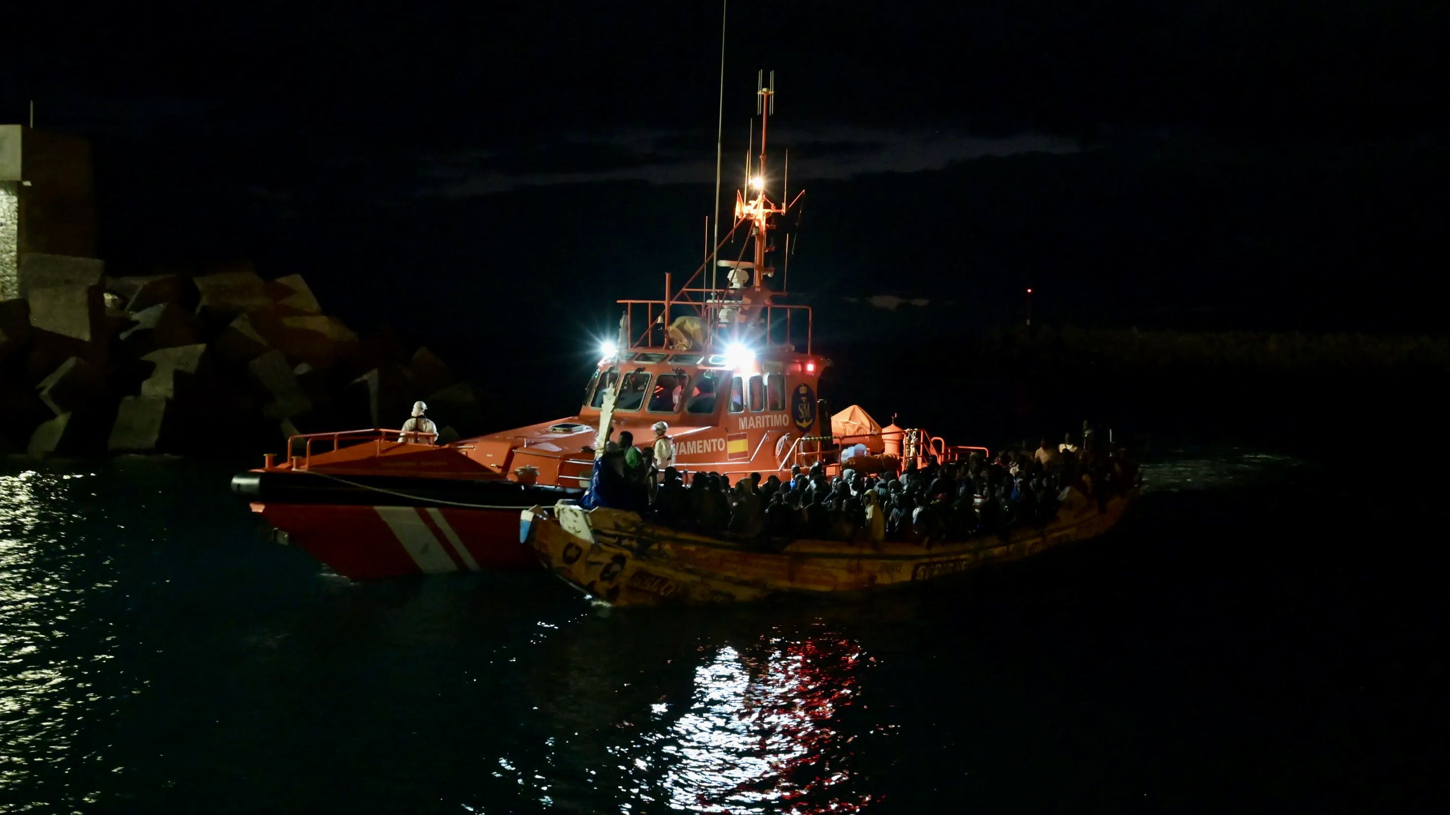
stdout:
{"type": "MultiPolygon", "coordinates": [[[[117,271],[251,258],[457,360],[583,345],[703,252],[716,3],[28,6],[0,119],[93,139],[117,271]]],[[[1054,324],[1443,330],[1444,3],[912,6],[731,3],[722,198],[774,69],[822,342],[1028,285],[1054,324]]]]}

